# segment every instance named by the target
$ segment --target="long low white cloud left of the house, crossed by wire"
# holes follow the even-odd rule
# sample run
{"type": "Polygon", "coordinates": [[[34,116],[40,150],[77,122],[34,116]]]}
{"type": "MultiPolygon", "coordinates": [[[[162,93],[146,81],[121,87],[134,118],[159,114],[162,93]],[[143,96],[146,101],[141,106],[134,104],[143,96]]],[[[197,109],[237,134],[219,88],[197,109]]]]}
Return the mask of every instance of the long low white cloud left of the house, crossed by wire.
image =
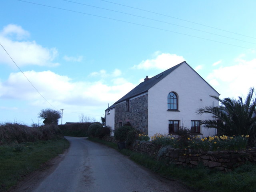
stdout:
{"type": "MultiPolygon", "coordinates": [[[[116,102],[134,85],[123,78],[118,78],[113,85],[101,81],[73,82],[67,76],[60,76],[51,71],[24,72],[36,89],[54,106],[106,106],[116,102]]],[[[32,87],[21,72],[11,73],[6,82],[0,82],[0,98],[27,100],[30,104],[45,106],[46,102],[32,87]]]]}

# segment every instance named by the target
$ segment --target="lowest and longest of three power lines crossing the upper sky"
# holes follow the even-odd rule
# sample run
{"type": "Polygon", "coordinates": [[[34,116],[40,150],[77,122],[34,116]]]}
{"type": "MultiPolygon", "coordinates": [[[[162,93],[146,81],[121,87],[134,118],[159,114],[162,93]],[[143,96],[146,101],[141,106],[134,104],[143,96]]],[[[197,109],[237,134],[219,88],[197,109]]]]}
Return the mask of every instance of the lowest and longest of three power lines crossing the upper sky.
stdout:
{"type": "Polygon", "coordinates": [[[64,8],[59,8],[59,7],[54,7],[54,6],[44,5],[44,4],[33,3],[33,2],[24,1],[24,0],[18,0],[18,1],[26,2],[26,3],[30,3],[30,4],[36,4],[36,5],[45,6],[45,7],[50,7],[50,8],[55,8],[55,9],[59,9],[59,10],[65,10],[65,11],[70,11],[70,12],[75,12],[75,13],[80,13],[80,14],[95,16],[95,17],[99,17],[99,18],[110,19],[110,20],[114,20],[114,21],[125,22],[125,23],[134,24],[134,25],[138,25],[138,26],[144,26],[144,27],[148,27],[148,28],[152,28],[152,29],[158,29],[158,30],[162,30],[162,31],[166,31],[166,32],[172,32],[172,33],[176,33],[176,34],[181,34],[181,35],[185,35],[185,36],[190,36],[190,37],[194,37],[194,38],[199,38],[199,39],[203,39],[203,40],[208,40],[208,41],[212,41],[212,42],[217,42],[217,43],[221,43],[221,44],[226,44],[226,45],[230,45],[230,46],[235,46],[235,47],[240,47],[240,48],[245,48],[245,49],[250,49],[250,50],[256,50],[256,49],[253,49],[253,48],[238,46],[238,45],[234,45],[234,44],[229,44],[229,43],[220,42],[220,41],[216,41],[216,40],[211,40],[211,39],[207,39],[207,38],[202,38],[202,37],[198,37],[198,36],[194,36],[194,35],[189,35],[189,34],[184,34],[184,33],[180,33],[180,32],[175,32],[175,31],[171,31],[171,30],[167,30],[167,29],[162,29],[162,28],[147,26],[147,25],[138,24],[138,23],[134,23],[134,22],[128,22],[128,21],[124,21],[124,20],[119,20],[119,19],[114,19],[114,18],[99,16],[99,15],[94,15],[94,14],[89,14],[89,13],[84,13],[84,12],[79,12],[79,11],[74,11],[74,10],[69,10],[69,9],[64,9],[64,8]]]}

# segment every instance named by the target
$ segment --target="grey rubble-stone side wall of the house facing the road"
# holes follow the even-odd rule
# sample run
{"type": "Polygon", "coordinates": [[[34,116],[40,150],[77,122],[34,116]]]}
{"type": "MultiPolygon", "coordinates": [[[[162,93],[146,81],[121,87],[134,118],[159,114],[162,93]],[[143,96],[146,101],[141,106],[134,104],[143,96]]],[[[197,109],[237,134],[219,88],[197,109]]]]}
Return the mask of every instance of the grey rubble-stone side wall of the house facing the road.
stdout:
{"type": "Polygon", "coordinates": [[[129,111],[126,102],[115,106],[115,130],[130,122],[131,126],[148,134],[148,95],[143,95],[129,101],[129,111]]]}

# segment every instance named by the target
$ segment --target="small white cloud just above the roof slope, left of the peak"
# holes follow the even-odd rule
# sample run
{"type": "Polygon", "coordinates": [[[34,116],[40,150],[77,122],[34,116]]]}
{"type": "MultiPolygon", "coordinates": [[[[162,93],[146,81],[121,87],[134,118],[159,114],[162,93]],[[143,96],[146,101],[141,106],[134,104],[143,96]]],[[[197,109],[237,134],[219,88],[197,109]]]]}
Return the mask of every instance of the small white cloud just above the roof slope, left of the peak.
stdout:
{"type": "Polygon", "coordinates": [[[140,62],[140,64],[134,65],[133,68],[145,69],[145,70],[148,70],[148,69],[166,70],[185,60],[182,56],[178,56],[176,54],[169,54],[169,53],[160,54],[160,52],[156,52],[154,56],[156,58],[143,60],[142,62],[140,62]]]}

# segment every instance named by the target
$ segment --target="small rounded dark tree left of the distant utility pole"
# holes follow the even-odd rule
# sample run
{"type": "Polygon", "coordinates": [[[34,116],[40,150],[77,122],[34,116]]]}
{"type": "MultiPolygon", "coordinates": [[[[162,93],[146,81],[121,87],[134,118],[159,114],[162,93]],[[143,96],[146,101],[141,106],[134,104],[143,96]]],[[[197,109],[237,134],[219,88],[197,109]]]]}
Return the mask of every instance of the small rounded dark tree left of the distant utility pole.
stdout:
{"type": "Polygon", "coordinates": [[[53,109],[42,109],[39,113],[40,118],[44,119],[43,123],[56,124],[58,125],[58,120],[61,118],[61,113],[53,109]]]}

